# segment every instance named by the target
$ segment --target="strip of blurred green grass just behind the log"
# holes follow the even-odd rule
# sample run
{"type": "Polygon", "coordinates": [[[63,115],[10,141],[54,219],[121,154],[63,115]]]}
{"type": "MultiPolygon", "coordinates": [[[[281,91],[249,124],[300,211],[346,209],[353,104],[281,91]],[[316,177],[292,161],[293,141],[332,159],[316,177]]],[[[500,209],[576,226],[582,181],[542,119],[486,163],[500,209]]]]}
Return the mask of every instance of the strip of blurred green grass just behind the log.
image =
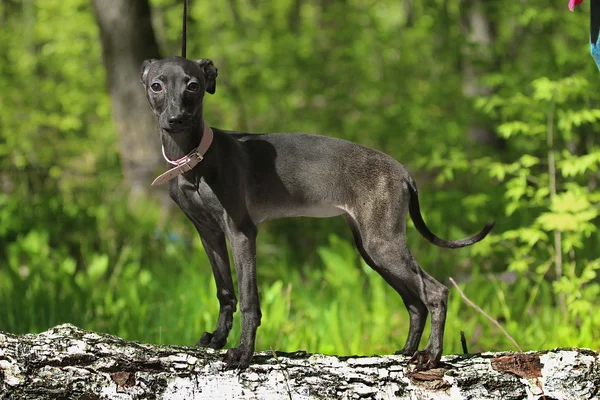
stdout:
{"type": "MultiPolygon", "coordinates": [[[[54,254],[43,235],[20,243],[9,246],[8,268],[0,268],[2,331],[39,332],[70,322],[129,340],[193,345],[202,332],[214,328],[215,287],[196,242],[156,239],[143,249],[125,245],[118,257],[111,258],[114,262],[91,255],[84,269],[60,252],[54,254]]],[[[257,350],[351,355],[400,349],[408,333],[408,314],[400,297],[357,261],[351,243],[332,237],[318,254],[322,266],[308,268],[290,265],[284,252],[259,250],[263,319],[257,350]]],[[[598,318],[573,321],[563,316],[554,304],[551,284],[544,280],[535,283],[519,277],[508,284],[473,271],[461,286],[524,349],[600,347],[598,318]]],[[[465,332],[471,352],[514,350],[451,288],[446,354],[461,352],[460,331],[465,332]]],[[[239,334],[236,313],[228,347],[237,343],[239,334]]],[[[428,329],[422,346],[427,337],[428,329]]]]}

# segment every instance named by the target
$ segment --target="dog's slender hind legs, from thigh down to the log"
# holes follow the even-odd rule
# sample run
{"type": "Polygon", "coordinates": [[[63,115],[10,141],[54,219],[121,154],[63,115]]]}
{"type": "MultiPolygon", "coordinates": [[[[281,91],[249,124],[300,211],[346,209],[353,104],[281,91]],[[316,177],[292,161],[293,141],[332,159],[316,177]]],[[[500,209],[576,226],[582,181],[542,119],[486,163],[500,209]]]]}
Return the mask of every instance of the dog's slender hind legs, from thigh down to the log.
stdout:
{"type": "Polygon", "coordinates": [[[402,354],[410,355],[417,349],[429,312],[429,341],[411,361],[418,368],[430,369],[442,355],[448,289],[423,271],[408,250],[408,198],[406,186],[387,182],[387,190],[379,192],[379,198],[355,204],[346,218],[365,261],[402,296],[409,311],[411,324],[402,354]]]}

